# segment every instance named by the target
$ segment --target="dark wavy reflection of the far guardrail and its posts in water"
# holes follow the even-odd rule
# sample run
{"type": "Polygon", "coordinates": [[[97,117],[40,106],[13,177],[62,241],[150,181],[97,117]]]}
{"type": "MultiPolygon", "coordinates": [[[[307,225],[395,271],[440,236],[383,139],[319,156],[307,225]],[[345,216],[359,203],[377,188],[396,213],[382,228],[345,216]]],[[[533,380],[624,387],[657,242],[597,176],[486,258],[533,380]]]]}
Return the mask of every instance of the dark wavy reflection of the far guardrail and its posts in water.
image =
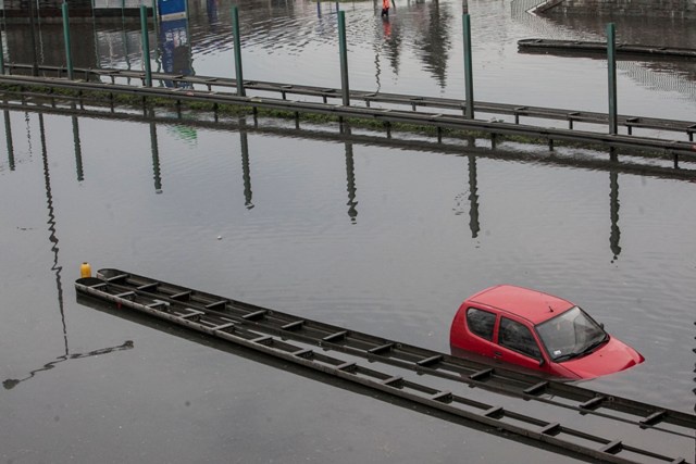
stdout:
{"type": "MultiPolygon", "coordinates": [[[[9,105],[5,103],[5,106],[9,105]]],[[[32,111],[37,111],[36,109],[32,109],[32,111]]],[[[83,152],[82,152],[82,143],[79,139],[79,116],[77,116],[75,105],[72,104],[70,110],[54,108],[54,109],[45,109],[46,112],[53,112],[58,114],[66,114],[70,115],[72,124],[73,124],[73,138],[74,138],[74,150],[75,150],[75,160],[77,167],[77,180],[82,181],[85,179],[85,173],[83,171],[83,152]]],[[[85,114],[90,114],[90,111],[86,109],[85,114]]],[[[9,156],[13,147],[13,134],[10,125],[10,111],[4,110],[5,113],[5,136],[8,138],[8,147],[9,147],[9,156]]],[[[58,238],[55,235],[55,222],[53,214],[53,204],[52,197],[50,191],[50,177],[48,173],[48,154],[45,147],[45,138],[44,138],[44,115],[39,113],[40,117],[40,128],[41,128],[41,152],[45,162],[46,170],[46,188],[47,188],[47,201],[49,206],[49,230],[51,231],[50,240],[53,243],[52,251],[55,253],[54,259],[54,271],[57,272],[57,285],[60,288],[60,272],[61,268],[58,266],[58,238]]],[[[150,131],[150,149],[152,153],[152,178],[154,181],[154,192],[162,192],[162,172],[160,167],[160,141],[158,137],[158,126],[161,124],[169,126],[175,125],[177,127],[182,126],[181,116],[172,117],[166,115],[158,115],[152,110],[146,112],[140,116],[134,115],[133,113],[128,114],[120,114],[119,112],[113,113],[104,113],[101,111],[95,112],[95,115],[98,115],[101,118],[113,118],[116,121],[120,120],[128,120],[130,122],[140,122],[142,124],[147,124],[150,131]]],[[[32,133],[29,130],[28,125],[28,113],[26,113],[27,118],[27,143],[32,145],[32,133]]],[[[347,214],[350,217],[351,224],[357,224],[358,217],[358,200],[357,200],[357,175],[355,168],[355,160],[353,160],[353,146],[355,143],[360,145],[372,145],[372,146],[384,146],[384,147],[401,147],[409,150],[426,150],[426,151],[436,151],[444,154],[450,153],[456,155],[462,154],[462,149],[467,155],[467,179],[468,179],[468,189],[464,193],[461,193],[457,197],[457,206],[455,208],[455,214],[469,216],[469,229],[471,230],[472,239],[478,238],[481,233],[481,222],[480,222],[480,208],[481,208],[481,198],[478,195],[480,186],[478,186],[478,174],[477,174],[477,159],[478,158],[494,158],[494,159],[507,159],[507,160],[519,160],[519,161],[530,161],[534,160],[542,163],[556,164],[561,166],[574,166],[579,168],[585,170],[600,170],[609,173],[609,213],[610,213],[610,229],[609,229],[609,249],[611,253],[611,261],[616,261],[621,254],[621,229],[619,226],[619,212],[620,212],[620,200],[619,200],[619,174],[620,173],[641,173],[642,175],[654,175],[657,177],[668,177],[673,179],[688,179],[693,180],[693,177],[696,173],[680,168],[668,168],[660,166],[646,166],[646,165],[633,165],[626,161],[618,161],[618,158],[614,156],[613,161],[601,161],[596,159],[585,159],[585,158],[576,158],[569,159],[564,156],[544,156],[538,155],[535,156],[533,153],[529,151],[517,152],[506,150],[502,148],[494,148],[493,150],[486,147],[477,148],[475,143],[475,139],[464,140],[465,147],[461,146],[461,142],[453,145],[448,143],[447,140],[438,139],[435,141],[423,141],[423,140],[400,140],[400,139],[389,139],[385,138],[384,135],[365,135],[363,133],[353,133],[351,127],[348,124],[344,124],[338,131],[332,131],[332,129],[318,128],[318,127],[308,127],[308,128],[299,128],[298,125],[295,128],[288,127],[273,127],[271,125],[264,124],[260,125],[259,120],[253,117],[253,125],[249,125],[246,117],[238,117],[236,120],[223,120],[223,121],[202,121],[202,120],[187,120],[186,127],[201,127],[207,129],[220,130],[220,129],[228,129],[235,130],[239,133],[239,143],[240,143],[240,156],[241,156],[241,172],[243,172],[243,185],[244,185],[244,205],[247,210],[251,210],[254,208],[253,203],[253,192],[252,192],[252,178],[251,178],[251,163],[250,160],[253,156],[252,148],[249,145],[248,134],[249,131],[258,131],[261,134],[269,134],[281,137],[300,137],[300,138],[309,138],[316,140],[324,140],[330,142],[338,142],[343,143],[345,147],[345,156],[346,156],[346,191],[347,191],[347,202],[348,206],[347,214]],[[467,204],[467,205],[465,205],[467,204]]],[[[13,166],[13,162],[11,163],[13,166]]],[[[62,297],[61,297],[62,299],[62,297]]]]}

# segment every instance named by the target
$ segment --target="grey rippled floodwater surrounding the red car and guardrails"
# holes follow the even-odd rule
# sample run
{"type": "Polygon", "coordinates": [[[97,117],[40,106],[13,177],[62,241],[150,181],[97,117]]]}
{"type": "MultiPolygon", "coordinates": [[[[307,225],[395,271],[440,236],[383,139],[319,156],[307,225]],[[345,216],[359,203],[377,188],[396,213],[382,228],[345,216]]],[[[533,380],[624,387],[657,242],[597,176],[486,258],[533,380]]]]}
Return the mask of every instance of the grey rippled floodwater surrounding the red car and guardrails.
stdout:
{"type": "MultiPolygon", "coordinates": [[[[158,64],[234,76],[229,7],[192,5],[158,64]]],[[[601,60],[517,53],[522,38],[601,38],[600,22],[512,7],[468,5],[476,98],[604,111],[601,60]]],[[[461,3],[397,2],[388,25],[372,2],[341,8],[352,88],[463,95],[461,3]]],[[[337,87],[335,3],[249,3],[240,20],[246,78],[337,87]]],[[[618,24],[626,41],[688,37],[674,22],[618,24]]],[[[79,27],[76,65],[139,68],[137,25],[79,27]]],[[[26,62],[26,26],[7,28],[5,57],[26,62]]],[[[41,32],[40,59],[60,64],[60,29],[41,32]]],[[[621,62],[620,112],[693,121],[689,66],[621,62]]],[[[693,178],[309,137],[263,120],[1,117],[3,463],[572,461],[78,302],[83,261],[445,352],[467,296],[538,288],[645,355],[588,388],[694,411],[693,178]]],[[[693,454],[693,442],[674,450],[693,454]]]]}

